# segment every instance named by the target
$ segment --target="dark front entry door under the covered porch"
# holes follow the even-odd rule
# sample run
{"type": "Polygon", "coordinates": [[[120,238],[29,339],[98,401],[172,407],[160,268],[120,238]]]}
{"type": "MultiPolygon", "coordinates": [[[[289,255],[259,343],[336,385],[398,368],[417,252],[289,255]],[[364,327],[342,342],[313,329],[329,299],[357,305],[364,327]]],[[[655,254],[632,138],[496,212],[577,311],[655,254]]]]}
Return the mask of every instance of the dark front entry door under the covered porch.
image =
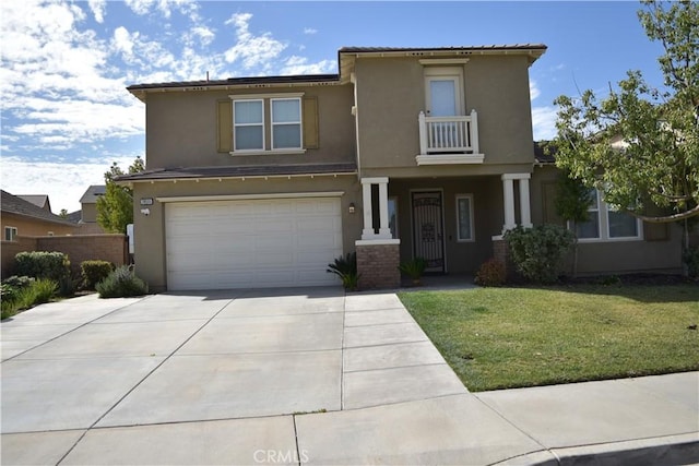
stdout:
{"type": "Polygon", "coordinates": [[[445,272],[441,192],[413,193],[413,252],[427,260],[427,272],[445,272]]]}

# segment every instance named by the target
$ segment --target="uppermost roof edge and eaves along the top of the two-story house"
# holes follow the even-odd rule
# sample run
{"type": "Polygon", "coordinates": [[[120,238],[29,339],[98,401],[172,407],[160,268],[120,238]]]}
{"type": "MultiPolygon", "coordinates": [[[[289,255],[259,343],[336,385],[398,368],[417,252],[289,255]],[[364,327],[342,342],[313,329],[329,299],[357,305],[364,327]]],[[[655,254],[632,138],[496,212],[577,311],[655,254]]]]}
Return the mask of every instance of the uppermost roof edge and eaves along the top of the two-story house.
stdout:
{"type": "Polygon", "coordinates": [[[183,89],[204,91],[212,87],[235,88],[235,87],[257,87],[274,85],[328,85],[347,83],[350,75],[347,71],[352,67],[353,60],[358,56],[411,56],[418,57],[440,57],[440,56],[471,56],[471,55],[526,55],[530,57],[530,64],[536,61],[546,51],[544,44],[513,44],[513,45],[487,45],[469,47],[342,47],[337,50],[337,74],[295,74],[287,76],[252,76],[252,77],[229,77],[227,80],[200,80],[200,81],[177,81],[165,83],[133,84],[127,87],[131,94],[145,101],[145,93],[155,89],[183,89]]]}

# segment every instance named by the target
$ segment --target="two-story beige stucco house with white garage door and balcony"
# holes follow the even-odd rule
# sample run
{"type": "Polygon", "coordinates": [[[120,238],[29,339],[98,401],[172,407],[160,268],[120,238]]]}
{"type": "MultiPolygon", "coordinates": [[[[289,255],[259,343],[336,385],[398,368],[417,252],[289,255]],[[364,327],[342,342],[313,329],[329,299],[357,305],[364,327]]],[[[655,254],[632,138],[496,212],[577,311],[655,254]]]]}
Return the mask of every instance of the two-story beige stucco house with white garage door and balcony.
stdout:
{"type": "MultiPolygon", "coordinates": [[[[503,230],[556,220],[529,88],[545,50],[348,47],[339,74],[128,87],[146,112],[147,170],[120,177],[139,275],[156,290],[337,284],[327,264],[352,251],[364,287],[398,286],[415,256],[475,272],[503,230]]],[[[642,231],[621,231],[628,253],[642,231]]],[[[645,268],[678,267],[673,244],[645,268]]],[[[581,272],[625,270],[601,251],[581,272]]]]}

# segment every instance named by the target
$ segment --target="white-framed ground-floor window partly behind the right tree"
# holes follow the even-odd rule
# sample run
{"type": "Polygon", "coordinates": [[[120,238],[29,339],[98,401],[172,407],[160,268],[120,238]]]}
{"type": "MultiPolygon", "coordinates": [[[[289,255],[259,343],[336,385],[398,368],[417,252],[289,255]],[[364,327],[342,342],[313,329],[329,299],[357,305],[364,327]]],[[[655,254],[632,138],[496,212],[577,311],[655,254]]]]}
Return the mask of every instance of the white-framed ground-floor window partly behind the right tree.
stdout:
{"type": "MultiPolygon", "coordinates": [[[[604,202],[600,191],[590,192],[592,203],[588,208],[588,222],[576,225],[576,234],[581,241],[624,241],[639,240],[641,236],[641,220],[626,212],[619,212],[604,202]]],[[[571,224],[568,223],[571,228],[571,224]]]]}

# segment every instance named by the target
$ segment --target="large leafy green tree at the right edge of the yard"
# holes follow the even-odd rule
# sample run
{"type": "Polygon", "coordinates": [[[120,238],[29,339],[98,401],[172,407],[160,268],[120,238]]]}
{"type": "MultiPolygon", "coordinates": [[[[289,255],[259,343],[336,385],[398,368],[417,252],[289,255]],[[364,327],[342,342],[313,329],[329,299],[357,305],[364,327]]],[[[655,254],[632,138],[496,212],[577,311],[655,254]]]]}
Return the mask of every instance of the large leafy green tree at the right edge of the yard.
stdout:
{"type": "Polygon", "coordinates": [[[699,216],[699,3],[642,4],[663,87],[629,71],[604,99],[558,97],[556,164],[645,222],[686,220],[699,216]]]}

